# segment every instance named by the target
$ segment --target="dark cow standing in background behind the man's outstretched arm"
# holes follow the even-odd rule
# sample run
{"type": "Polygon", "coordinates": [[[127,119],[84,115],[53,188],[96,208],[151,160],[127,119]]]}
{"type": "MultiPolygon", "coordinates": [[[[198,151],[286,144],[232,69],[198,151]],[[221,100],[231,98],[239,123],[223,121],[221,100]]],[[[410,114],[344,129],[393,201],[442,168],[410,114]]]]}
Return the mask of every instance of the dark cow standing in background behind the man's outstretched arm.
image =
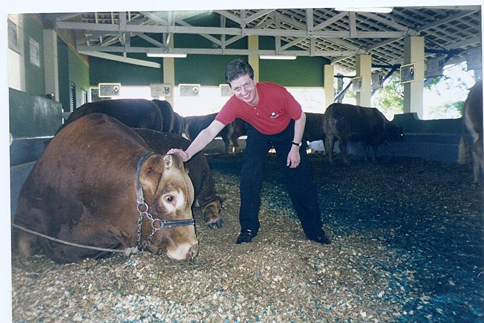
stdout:
{"type": "MultiPolygon", "coordinates": [[[[212,121],[215,120],[217,116],[216,113],[205,116],[190,116],[183,117],[184,123],[184,133],[189,140],[194,140],[198,134],[207,128],[212,121]]],[[[230,152],[230,139],[233,135],[233,126],[231,123],[226,125],[217,135],[217,137],[222,137],[223,143],[225,144],[225,153],[230,152]]],[[[235,144],[234,144],[235,146],[235,144]]]]}

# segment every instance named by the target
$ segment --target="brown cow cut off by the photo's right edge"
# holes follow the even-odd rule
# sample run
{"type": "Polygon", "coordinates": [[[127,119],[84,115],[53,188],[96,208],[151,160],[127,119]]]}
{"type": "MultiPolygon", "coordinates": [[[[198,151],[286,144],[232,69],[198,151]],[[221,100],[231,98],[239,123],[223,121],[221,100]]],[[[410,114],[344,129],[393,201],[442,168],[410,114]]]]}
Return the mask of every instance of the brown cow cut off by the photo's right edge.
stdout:
{"type": "Polygon", "coordinates": [[[482,80],[472,86],[464,103],[462,135],[459,144],[459,164],[466,164],[468,155],[465,140],[466,129],[472,137],[471,155],[474,168],[474,183],[482,182],[484,173],[484,147],[482,142],[482,80]]]}

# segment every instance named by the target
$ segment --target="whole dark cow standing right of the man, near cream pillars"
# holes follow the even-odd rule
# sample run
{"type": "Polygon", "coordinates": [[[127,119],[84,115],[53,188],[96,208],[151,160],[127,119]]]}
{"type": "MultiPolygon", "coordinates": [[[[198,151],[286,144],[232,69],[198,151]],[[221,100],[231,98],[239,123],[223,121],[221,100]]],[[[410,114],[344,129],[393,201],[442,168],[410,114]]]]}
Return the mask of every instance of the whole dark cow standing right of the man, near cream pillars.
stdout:
{"type": "Polygon", "coordinates": [[[368,159],[368,146],[373,148],[373,161],[377,161],[378,146],[391,140],[399,140],[403,136],[401,127],[397,127],[385,118],[375,107],[333,103],[324,113],[323,131],[326,133],[324,142],[329,162],[334,163],[333,147],[336,138],[343,162],[348,163],[346,144],[348,141],[361,141],[365,147],[365,160],[368,159]]]}

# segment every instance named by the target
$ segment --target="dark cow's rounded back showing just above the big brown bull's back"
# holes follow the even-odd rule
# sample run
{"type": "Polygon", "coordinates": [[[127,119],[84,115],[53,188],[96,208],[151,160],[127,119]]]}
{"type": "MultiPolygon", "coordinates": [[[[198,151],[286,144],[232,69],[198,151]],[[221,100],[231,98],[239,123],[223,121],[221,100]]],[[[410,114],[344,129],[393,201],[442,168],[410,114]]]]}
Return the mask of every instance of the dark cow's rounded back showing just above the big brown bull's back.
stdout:
{"type": "Polygon", "coordinates": [[[59,132],[71,122],[91,113],[103,113],[131,128],[163,131],[163,115],[158,106],[146,99],[116,99],[84,103],[74,110],[59,132]]]}

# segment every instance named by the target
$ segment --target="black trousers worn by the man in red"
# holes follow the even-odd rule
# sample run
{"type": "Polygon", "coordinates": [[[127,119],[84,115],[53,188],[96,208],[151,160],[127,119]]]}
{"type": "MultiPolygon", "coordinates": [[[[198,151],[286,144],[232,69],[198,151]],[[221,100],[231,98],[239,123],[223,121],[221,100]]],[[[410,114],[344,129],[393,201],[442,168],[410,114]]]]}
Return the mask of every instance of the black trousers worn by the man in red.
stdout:
{"type": "MultiPolygon", "coordinates": [[[[246,124],[247,141],[244,151],[244,165],[240,178],[240,228],[252,230],[257,234],[259,231],[259,207],[260,192],[263,181],[264,162],[271,147],[276,150],[279,168],[282,178],[288,190],[292,205],[296,210],[302,229],[308,239],[315,239],[322,235],[321,212],[318,205],[318,195],[313,182],[308,156],[306,154],[306,142],[302,141],[299,147],[301,161],[296,168],[289,168],[287,155],[292,147],[294,137],[294,121],[280,133],[265,135],[246,124]]],[[[268,179],[270,181],[270,179],[268,179]]]]}

